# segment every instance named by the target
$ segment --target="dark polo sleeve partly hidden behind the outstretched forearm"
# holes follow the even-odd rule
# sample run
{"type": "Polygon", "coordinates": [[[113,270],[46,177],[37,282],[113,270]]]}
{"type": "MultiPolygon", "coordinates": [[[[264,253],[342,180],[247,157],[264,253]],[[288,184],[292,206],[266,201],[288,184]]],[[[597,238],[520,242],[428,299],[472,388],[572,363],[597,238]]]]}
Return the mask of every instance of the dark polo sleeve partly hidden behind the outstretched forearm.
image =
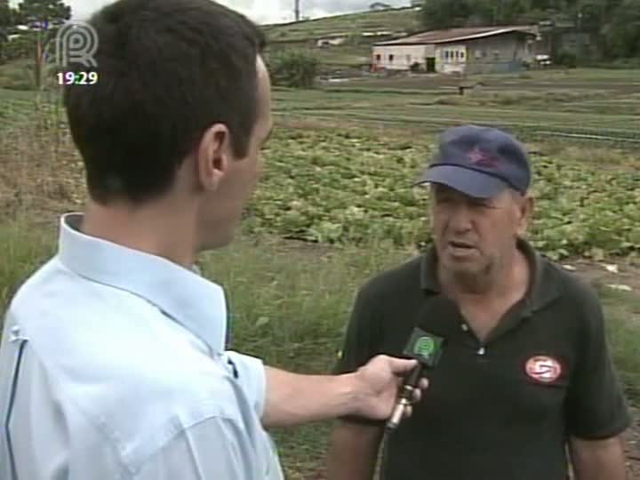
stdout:
{"type": "MultiPolygon", "coordinates": [[[[333,367],[333,374],[355,372],[358,368],[367,364],[379,350],[378,329],[380,312],[374,301],[371,291],[366,288],[360,290],[351,311],[347,325],[347,332],[343,340],[342,349],[338,355],[338,361],[333,367]]],[[[348,420],[368,425],[379,425],[380,420],[371,420],[364,417],[348,415],[341,417],[348,420]]]]}

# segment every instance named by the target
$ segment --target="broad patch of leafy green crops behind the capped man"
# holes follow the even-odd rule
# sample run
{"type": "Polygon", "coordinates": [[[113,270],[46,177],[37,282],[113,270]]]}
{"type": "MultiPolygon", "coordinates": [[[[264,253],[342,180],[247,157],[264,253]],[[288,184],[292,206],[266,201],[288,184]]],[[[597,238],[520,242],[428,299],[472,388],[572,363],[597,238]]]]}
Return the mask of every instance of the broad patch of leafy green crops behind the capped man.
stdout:
{"type": "MultiPolygon", "coordinates": [[[[250,205],[254,232],[327,243],[428,241],[428,196],[412,180],[433,138],[338,130],[276,130],[250,205]]],[[[532,242],[550,257],[640,252],[640,174],[532,156],[532,242]]]]}

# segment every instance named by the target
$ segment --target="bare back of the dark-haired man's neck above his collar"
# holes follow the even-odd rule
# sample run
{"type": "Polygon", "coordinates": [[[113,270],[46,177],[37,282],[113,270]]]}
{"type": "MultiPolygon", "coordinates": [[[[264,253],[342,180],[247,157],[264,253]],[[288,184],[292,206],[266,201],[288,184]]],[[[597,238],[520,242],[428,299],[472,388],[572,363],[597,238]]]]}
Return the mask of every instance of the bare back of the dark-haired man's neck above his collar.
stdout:
{"type": "Polygon", "coordinates": [[[166,204],[135,209],[90,201],[80,228],[85,235],[191,268],[196,260],[196,221],[185,212],[187,209],[166,204]]]}

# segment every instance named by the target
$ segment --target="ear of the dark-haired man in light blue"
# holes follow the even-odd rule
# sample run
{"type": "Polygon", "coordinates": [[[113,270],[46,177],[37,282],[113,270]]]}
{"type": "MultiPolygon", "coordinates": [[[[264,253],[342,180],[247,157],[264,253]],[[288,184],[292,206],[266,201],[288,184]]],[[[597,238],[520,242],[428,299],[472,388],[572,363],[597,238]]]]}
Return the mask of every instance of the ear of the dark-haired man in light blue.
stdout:
{"type": "Polygon", "coordinates": [[[198,184],[205,190],[215,190],[228,172],[230,134],[224,124],[214,124],[200,140],[196,151],[198,184]]]}

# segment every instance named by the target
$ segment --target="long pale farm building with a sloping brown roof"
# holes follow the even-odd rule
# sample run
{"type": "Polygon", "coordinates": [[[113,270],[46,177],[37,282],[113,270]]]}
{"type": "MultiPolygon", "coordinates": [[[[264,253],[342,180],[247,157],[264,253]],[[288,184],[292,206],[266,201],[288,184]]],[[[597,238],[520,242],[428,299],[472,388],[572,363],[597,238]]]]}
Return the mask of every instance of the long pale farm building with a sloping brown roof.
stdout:
{"type": "Polygon", "coordinates": [[[429,73],[513,72],[537,52],[535,27],[476,27],[433,30],[372,45],[372,70],[429,73]]]}

